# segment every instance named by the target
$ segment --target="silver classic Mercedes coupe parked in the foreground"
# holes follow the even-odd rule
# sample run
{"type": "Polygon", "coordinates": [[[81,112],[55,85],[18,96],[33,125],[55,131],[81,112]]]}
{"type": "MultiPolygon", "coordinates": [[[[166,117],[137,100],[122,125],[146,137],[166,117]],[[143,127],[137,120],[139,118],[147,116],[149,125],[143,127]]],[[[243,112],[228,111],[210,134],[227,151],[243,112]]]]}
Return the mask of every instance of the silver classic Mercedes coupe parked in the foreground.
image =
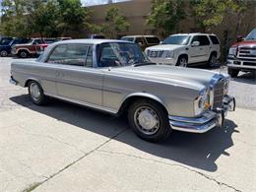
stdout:
{"type": "Polygon", "coordinates": [[[32,102],[48,96],[115,115],[126,113],[135,133],[158,142],[179,130],[204,133],[223,126],[235,107],[220,73],[156,65],[140,47],[109,39],[51,44],[37,60],[17,60],[10,82],[28,87],[32,102]]]}

